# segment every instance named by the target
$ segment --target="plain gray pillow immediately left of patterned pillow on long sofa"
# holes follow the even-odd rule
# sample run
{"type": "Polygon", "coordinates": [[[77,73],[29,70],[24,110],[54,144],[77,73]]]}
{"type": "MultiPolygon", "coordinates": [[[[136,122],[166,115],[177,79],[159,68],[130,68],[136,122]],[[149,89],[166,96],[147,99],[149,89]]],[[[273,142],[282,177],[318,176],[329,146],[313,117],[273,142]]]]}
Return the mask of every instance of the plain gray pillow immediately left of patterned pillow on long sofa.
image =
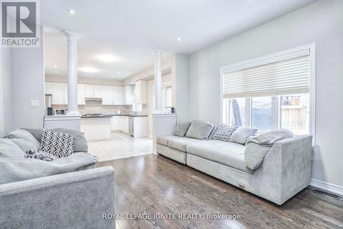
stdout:
{"type": "Polygon", "coordinates": [[[200,140],[209,140],[209,135],[213,130],[213,124],[201,120],[193,120],[189,127],[186,137],[200,140]]]}

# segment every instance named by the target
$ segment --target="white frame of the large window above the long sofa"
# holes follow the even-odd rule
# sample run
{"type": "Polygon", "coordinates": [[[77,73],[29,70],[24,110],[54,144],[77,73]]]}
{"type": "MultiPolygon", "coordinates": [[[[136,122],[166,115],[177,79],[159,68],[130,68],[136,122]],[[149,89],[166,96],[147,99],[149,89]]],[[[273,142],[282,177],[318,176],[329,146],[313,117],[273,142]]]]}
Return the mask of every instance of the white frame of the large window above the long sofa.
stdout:
{"type": "MultiPolygon", "coordinates": [[[[279,59],[287,54],[292,54],[293,52],[301,52],[303,50],[309,50],[309,62],[310,62],[310,83],[309,83],[309,134],[313,135],[312,144],[316,145],[316,43],[310,43],[308,45],[303,45],[300,47],[295,47],[282,52],[276,52],[274,54],[260,56],[258,58],[253,58],[248,61],[241,61],[239,63],[234,63],[231,65],[226,65],[220,67],[220,120],[224,121],[224,93],[223,93],[223,80],[224,72],[228,69],[246,69],[251,65],[264,65],[265,61],[270,61],[272,59],[279,59]]],[[[279,104],[281,104],[279,102],[279,104]]],[[[250,116],[251,116],[251,105],[250,100],[250,116]]],[[[251,118],[250,118],[251,120],[251,118]]],[[[281,114],[278,117],[278,123],[281,122],[281,114]]]]}

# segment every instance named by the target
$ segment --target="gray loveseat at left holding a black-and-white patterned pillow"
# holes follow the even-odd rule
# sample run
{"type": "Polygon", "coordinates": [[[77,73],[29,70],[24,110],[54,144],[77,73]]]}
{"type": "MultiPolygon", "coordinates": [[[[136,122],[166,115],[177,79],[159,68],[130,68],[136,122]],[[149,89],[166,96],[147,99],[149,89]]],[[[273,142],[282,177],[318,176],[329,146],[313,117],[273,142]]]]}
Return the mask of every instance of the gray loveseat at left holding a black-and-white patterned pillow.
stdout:
{"type": "Polygon", "coordinates": [[[27,131],[0,139],[0,228],[115,228],[102,218],[115,213],[113,168],[94,168],[83,134],[55,130],[75,133],[76,151],[45,162],[24,158],[43,130],[27,131]]]}

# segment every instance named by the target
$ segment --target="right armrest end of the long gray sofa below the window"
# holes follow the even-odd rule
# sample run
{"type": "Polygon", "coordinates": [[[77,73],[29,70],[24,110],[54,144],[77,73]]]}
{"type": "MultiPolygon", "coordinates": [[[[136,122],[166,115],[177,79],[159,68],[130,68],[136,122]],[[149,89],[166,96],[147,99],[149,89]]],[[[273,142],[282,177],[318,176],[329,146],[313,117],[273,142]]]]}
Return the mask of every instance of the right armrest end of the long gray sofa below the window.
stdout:
{"type": "MultiPolygon", "coordinates": [[[[265,156],[261,170],[270,173],[280,204],[309,185],[311,177],[312,135],[300,135],[275,142],[265,156]]],[[[256,172],[259,171],[257,169],[256,172]]]]}

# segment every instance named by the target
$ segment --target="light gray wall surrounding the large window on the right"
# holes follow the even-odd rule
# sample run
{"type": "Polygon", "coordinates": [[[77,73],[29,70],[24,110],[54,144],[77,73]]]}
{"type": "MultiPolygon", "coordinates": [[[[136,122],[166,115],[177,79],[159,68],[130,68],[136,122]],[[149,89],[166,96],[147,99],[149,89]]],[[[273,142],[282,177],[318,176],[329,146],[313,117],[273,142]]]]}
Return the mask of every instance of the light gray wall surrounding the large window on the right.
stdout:
{"type": "Polygon", "coordinates": [[[312,178],[343,186],[343,1],[322,0],[192,54],[190,118],[220,123],[220,67],[316,42],[312,178]]]}

